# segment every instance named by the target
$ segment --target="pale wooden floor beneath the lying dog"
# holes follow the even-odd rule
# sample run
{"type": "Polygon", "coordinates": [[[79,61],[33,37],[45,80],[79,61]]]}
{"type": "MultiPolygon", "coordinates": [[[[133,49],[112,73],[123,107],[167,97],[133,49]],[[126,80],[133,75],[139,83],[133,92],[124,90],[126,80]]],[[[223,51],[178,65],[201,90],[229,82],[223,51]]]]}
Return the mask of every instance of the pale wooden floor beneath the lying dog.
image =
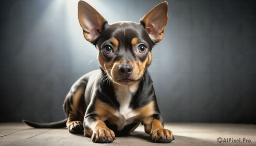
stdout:
{"type": "MultiPolygon", "coordinates": [[[[256,146],[256,125],[246,124],[208,124],[208,123],[171,123],[166,124],[172,130],[175,140],[169,144],[157,146],[256,146]],[[218,143],[217,138],[233,138],[244,143],[218,143]],[[250,143],[248,140],[250,139],[250,143]]],[[[70,134],[67,129],[34,129],[24,123],[0,123],[0,146],[155,146],[149,136],[139,126],[128,137],[116,137],[111,144],[91,142],[83,135],[70,134]]]]}

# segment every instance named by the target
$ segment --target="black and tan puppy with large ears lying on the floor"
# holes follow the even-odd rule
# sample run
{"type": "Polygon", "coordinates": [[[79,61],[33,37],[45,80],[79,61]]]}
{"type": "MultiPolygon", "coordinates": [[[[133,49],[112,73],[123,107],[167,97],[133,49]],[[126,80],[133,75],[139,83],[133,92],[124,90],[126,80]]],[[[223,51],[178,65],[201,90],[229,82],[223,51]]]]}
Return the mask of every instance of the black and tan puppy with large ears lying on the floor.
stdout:
{"type": "Polygon", "coordinates": [[[135,22],[108,21],[84,1],[78,3],[78,18],[84,38],[98,51],[99,70],[82,76],[67,94],[63,109],[67,119],[34,123],[35,128],[67,127],[94,143],[111,143],[142,123],[155,143],[171,143],[172,132],[163,118],[150,75],[152,47],[163,39],[168,22],[168,3],[163,2],[135,22]],[[116,136],[115,136],[116,135],[116,136]]]}

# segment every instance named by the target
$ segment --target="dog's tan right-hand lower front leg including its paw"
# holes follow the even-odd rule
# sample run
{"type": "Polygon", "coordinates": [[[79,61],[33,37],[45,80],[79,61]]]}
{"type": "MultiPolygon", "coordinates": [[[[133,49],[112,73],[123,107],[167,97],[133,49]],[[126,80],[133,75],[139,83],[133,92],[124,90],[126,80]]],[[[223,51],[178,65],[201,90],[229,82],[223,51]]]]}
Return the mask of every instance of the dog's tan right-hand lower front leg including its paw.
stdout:
{"type": "Polygon", "coordinates": [[[153,115],[142,121],[145,132],[150,135],[151,140],[155,143],[170,143],[175,138],[172,132],[163,127],[163,118],[161,115],[153,115]]]}

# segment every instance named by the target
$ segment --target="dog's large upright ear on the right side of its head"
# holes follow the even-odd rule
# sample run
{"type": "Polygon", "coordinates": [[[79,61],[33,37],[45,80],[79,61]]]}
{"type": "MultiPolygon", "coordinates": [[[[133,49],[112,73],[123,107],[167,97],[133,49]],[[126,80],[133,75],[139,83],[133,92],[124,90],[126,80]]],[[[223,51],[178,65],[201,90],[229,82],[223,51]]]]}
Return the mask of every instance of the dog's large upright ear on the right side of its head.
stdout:
{"type": "Polygon", "coordinates": [[[151,9],[141,20],[154,43],[163,39],[163,31],[168,22],[168,3],[163,2],[151,9]]]}

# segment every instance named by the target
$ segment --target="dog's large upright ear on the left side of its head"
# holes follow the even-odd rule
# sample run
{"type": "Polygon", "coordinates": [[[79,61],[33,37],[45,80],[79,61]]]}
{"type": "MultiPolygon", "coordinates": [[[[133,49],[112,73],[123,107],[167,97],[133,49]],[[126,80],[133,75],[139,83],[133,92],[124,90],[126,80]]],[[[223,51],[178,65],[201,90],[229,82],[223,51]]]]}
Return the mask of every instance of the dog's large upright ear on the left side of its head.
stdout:
{"type": "Polygon", "coordinates": [[[106,20],[88,3],[80,0],[78,3],[78,19],[83,28],[84,38],[90,43],[99,37],[106,20]]]}

